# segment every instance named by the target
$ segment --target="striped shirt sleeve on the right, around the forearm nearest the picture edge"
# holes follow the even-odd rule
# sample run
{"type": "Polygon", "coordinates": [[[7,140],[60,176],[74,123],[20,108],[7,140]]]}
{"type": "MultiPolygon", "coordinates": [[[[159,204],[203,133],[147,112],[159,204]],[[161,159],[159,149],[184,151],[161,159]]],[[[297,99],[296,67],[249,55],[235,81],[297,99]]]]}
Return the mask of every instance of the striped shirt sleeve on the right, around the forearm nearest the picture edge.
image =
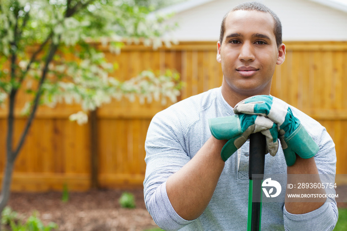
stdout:
{"type": "MultiPolygon", "coordinates": [[[[320,135],[313,137],[319,145],[319,151],[314,157],[322,182],[335,182],[336,151],[335,144],[323,128],[320,135]]],[[[326,188],[327,194],[336,194],[335,188],[326,188]]],[[[317,210],[306,214],[291,214],[284,206],[284,224],[286,231],[314,230],[331,231],[338,221],[338,208],[335,198],[327,198],[326,202],[317,210]]]]}

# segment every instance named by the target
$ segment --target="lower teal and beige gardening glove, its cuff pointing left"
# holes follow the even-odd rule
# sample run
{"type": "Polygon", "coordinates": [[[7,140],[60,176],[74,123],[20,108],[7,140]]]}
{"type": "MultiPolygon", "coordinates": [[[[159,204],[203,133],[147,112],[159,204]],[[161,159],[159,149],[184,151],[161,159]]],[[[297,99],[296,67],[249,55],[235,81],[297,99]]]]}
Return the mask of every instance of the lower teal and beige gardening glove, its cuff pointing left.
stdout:
{"type": "Polygon", "coordinates": [[[278,150],[277,125],[264,116],[234,115],[209,119],[212,135],[219,140],[228,140],[221,152],[223,161],[236,152],[251,133],[262,132],[266,136],[267,149],[274,155],[278,150]]]}

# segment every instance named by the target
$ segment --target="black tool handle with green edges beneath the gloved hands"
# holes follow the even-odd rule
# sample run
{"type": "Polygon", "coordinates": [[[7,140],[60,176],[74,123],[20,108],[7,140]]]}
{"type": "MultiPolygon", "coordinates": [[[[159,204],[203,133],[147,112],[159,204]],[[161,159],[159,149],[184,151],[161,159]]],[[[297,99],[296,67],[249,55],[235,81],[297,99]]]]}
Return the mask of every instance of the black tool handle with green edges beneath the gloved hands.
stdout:
{"type": "Polygon", "coordinates": [[[251,231],[260,231],[261,223],[261,184],[264,176],[266,138],[260,132],[250,135],[249,144],[249,172],[248,176],[252,182],[252,211],[251,231]],[[256,201],[256,202],[253,202],[256,201]]]}

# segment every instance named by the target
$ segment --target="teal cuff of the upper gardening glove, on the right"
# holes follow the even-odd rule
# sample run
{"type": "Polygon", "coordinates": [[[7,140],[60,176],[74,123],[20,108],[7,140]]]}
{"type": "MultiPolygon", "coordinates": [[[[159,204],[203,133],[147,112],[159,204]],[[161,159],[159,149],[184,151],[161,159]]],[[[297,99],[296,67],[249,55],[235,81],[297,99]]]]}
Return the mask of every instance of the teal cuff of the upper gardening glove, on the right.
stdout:
{"type": "Polygon", "coordinates": [[[304,159],[314,157],[319,150],[318,145],[314,142],[302,124],[300,124],[294,132],[284,140],[290,149],[304,159]]]}

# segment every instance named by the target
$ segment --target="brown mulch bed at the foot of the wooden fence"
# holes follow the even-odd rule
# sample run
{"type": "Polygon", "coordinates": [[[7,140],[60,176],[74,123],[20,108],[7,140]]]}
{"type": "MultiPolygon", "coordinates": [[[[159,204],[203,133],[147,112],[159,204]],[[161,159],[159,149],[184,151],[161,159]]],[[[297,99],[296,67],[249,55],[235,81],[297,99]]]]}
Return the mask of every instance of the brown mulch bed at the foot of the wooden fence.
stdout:
{"type": "Polygon", "coordinates": [[[8,205],[25,218],[39,212],[45,225],[58,224],[59,231],[143,231],[157,227],[146,210],[143,190],[126,190],[135,196],[136,208],[119,205],[123,190],[70,192],[62,201],[61,192],[13,192],[8,205]]]}

